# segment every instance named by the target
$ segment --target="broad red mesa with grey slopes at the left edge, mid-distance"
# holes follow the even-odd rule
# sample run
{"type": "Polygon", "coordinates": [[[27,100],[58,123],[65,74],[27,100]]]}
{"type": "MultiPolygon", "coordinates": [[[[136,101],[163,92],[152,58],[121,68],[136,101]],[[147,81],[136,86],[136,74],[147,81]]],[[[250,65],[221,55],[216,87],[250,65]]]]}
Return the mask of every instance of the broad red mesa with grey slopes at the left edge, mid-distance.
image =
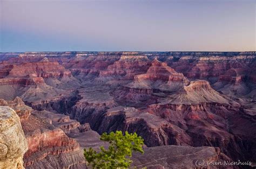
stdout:
{"type": "Polygon", "coordinates": [[[14,60],[15,58],[11,58],[0,64],[3,76],[0,79],[0,97],[5,100],[13,100],[18,96],[29,104],[44,102],[67,94],[63,89],[79,86],[79,81],[68,69],[58,62],[50,62],[46,57],[20,56],[17,62],[14,60]]]}

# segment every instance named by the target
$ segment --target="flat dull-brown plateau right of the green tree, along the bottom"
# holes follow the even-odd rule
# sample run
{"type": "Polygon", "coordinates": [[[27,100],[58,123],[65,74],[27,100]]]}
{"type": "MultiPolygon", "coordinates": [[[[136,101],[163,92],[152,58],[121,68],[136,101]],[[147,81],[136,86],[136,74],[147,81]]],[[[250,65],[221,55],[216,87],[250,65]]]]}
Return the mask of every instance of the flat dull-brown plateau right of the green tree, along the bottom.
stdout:
{"type": "MultiPolygon", "coordinates": [[[[136,168],[201,168],[197,161],[215,162],[229,160],[218,147],[192,147],[166,145],[146,147],[144,154],[134,153],[131,167],[136,168]]],[[[211,168],[218,168],[210,166],[211,168]]],[[[228,167],[227,167],[228,168],[228,167]]],[[[236,168],[236,167],[234,167],[236,168]]]]}

